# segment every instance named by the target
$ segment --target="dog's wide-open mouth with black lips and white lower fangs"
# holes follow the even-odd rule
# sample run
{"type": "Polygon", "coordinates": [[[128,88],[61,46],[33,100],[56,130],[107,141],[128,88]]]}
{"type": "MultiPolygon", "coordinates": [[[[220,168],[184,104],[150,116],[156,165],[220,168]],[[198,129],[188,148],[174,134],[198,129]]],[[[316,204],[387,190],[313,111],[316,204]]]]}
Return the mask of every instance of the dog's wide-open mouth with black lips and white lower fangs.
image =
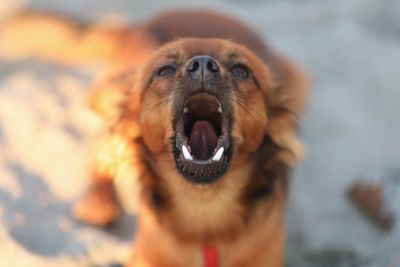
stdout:
{"type": "Polygon", "coordinates": [[[221,103],[207,93],[191,96],[176,123],[178,170],[193,182],[211,183],[225,173],[231,155],[229,118],[221,103]]]}

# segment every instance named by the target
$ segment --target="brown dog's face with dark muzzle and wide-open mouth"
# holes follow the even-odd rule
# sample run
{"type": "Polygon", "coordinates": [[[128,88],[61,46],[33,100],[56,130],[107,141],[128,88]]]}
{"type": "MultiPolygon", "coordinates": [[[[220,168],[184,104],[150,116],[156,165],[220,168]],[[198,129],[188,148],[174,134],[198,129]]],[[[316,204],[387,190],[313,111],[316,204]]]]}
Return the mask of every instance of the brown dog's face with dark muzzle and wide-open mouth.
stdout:
{"type": "Polygon", "coordinates": [[[269,76],[257,56],[229,41],[183,39],[161,48],[140,79],[146,147],[155,158],[170,154],[171,168],[189,181],[215,182],[260,146],[269,76]]]}

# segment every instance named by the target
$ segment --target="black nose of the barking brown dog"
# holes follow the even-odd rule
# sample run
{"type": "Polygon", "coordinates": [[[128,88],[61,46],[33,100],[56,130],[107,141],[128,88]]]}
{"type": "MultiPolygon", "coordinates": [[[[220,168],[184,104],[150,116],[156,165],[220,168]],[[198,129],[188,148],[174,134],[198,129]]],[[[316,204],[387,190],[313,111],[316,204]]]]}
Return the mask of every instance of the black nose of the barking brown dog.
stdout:
{"type": "Polygon", "coordinates": [[[186,70],[193,79],[207,81],[218,75],[219,67],[210,56],[196,56],[189,60],[186,70]]]}

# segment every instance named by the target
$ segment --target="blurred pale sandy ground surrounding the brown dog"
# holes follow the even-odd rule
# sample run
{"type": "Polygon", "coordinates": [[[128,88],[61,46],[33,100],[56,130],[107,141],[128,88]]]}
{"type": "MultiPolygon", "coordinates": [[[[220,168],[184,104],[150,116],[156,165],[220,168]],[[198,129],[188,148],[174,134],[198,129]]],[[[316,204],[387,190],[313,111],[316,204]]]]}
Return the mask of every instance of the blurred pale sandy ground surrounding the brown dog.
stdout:
{"type": "MultiPolygon", "coordinates": [[[[175,7],[247,22],[310,74],[307,155],[293,175],[287,266],[400,266],[400,223],[382,231],[348,197],[382,185],[400,219],[400,1],[1,0],[19,8],[138,24],[175,7]]],[[[98,122],[84,99],[94,73],[45,61],[0,62],[0,266],[108,266],[131,249],[135,208],[108,230],[74,221],[98,122]]],[[[123,186],[122,186],[123,187],[123,186]]]]}

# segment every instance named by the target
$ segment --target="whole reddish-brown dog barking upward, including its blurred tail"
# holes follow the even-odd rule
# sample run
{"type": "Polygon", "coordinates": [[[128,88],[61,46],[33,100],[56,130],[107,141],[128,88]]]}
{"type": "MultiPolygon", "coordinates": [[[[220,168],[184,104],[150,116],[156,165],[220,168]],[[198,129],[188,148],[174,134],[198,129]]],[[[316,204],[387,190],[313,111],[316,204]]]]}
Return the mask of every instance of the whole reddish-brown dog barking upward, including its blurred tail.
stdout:
{"type": "Polygon", "coordinates": [[[3,25],[3,57],[111,66],[90,98],[108,132],[74,211],[111,223],[113,179],[137,174],[129,266],[283,266],[288,176],[302,155],[297,124],[308,91],[294,65],[237,20],[205,11],[166,13],[136,29],[37,14],[3,25]],[[10,45],[27,27],[33,45],[10,45]],[[40,41],[44,29],[58,41],[40,41]]]}

